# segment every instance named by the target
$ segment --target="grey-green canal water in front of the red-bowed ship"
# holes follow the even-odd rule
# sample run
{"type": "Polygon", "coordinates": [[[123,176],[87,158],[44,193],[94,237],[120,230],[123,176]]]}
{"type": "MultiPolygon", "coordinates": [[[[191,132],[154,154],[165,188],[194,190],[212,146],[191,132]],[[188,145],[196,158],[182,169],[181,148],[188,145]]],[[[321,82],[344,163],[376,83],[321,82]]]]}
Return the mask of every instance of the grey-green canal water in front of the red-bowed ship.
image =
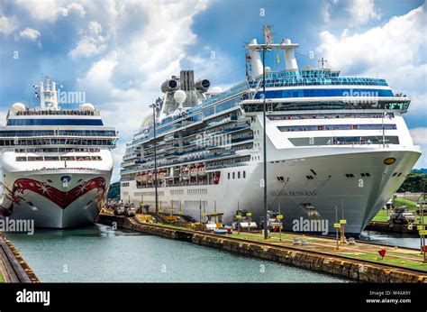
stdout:
{"type": "Polygon", "coordinates": [[[106,225],[7,237],[44,282],[349,282],[106,225]]]}

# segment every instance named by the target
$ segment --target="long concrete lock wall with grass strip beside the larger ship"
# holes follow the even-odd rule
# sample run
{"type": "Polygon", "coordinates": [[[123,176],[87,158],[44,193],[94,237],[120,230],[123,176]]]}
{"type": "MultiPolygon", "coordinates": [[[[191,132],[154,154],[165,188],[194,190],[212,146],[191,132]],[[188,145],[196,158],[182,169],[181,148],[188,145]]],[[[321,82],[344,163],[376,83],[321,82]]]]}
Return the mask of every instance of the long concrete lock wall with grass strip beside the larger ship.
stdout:
{"type": "Polygon", "coordinates": [[[248,257],[279,262],[311,271],[320,271],[361,282],[427,283],[427,264],[420,250],[356,241],[341,244],[331,237],[271,233],[268,241],[260,232],[213,234],[177,225],[151,224],[137,216],[124,217],[106,213],[98,223],[117,225],[145,234],[182,240],[248,257]],[[385,251],[384,258],[379,251],[385,251]]]}

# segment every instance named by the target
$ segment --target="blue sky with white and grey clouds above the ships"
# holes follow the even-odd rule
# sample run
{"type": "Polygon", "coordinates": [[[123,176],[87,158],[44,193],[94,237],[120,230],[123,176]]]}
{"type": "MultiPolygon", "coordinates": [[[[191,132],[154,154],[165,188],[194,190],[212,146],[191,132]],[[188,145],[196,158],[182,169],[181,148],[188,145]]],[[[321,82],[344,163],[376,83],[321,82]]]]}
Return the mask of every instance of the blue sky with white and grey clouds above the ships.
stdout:
{"type": "Polygon", "coordinates": [[[419,0],[0,0],[0,123],[15,102],[36,106],[32,85],[50,76],[119,131],[116,181],[160,84],[181,69],[213,87],[243,81],[244,43],[262,41],[268,24],[275,41],[299,43],[300,68],[323,57],[341,75],[386,78],[410,96],[404,118],[423,151],[415,168],[427,168],[425,11],[419,0]]]}

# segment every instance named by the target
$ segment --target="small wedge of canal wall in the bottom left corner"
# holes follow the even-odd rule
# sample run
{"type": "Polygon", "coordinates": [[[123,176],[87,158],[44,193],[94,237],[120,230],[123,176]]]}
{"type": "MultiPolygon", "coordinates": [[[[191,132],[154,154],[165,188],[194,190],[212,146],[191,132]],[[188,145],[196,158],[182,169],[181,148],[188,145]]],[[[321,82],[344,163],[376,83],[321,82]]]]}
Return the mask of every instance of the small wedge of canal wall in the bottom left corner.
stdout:
{"type": "Polygon", "coordinates": [[[39,283],[35,273],[14,245],[0,233],[0,282],[39,283]]]}

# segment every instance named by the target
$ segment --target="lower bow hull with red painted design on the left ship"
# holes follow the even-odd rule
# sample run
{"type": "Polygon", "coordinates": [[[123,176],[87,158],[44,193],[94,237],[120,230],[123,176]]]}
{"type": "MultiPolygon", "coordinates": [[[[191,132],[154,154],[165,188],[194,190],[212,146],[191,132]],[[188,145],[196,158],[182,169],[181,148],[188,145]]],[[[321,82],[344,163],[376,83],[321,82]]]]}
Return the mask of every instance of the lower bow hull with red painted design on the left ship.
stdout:
{"type": "Polygon", "coordinates": [[[111,170],[4,169],[3,173],[2,215],[50,228],[94,223],[111,179],[111,170]],[[69,181],[64,183],[64,177],[69,181]]]}

